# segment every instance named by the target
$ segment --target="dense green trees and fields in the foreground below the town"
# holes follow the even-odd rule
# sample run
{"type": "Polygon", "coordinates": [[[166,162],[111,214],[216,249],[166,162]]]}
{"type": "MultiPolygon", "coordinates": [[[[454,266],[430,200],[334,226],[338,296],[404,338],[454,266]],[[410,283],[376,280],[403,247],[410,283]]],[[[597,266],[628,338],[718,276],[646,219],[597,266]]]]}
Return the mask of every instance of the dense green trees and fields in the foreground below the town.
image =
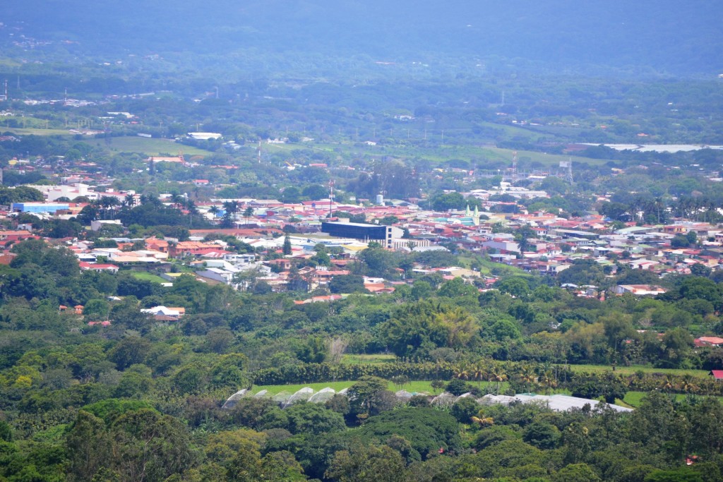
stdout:
{"type": "MultiPolygon", "coordinates": [[[[375,249],[356,269],[375,266],[375,249]]],[[[608,301],[537,277],[502,277],[479,296],[427,277],[393,295],[294,305],[294,292],[239,293],[192,277],[163,288],[123,270],[81,274],[73,254],[44,241],[12,251],[0,268],[0,470],[9,481],[345,481],[378,478],[380,467],[394,481],[714,481],[721,470],[723,408],[705,395],[723,395],[722,385],[695,372],[623,369],[721,366],[719,350],[693,350],[690,335],[720,330],[723,294],[706,277],[670,280],[660,299],[608,301]],[[85,320],[60,304],[85,305],[85,320]],[[157,304],[187,315],[168,324],[140,311],[157,304]],[[113,322],[87,325],[102,319],[113,322]],[[340,363],[345,351],[386,349],[395,361],[340,363]],[[620,370],[570,369],[593,361],[620,370]],[[335,380],[348,380],[349,398],[220,408],[242,387],[335,380]],[[392,410],[390,389],[414,390],[411,380],[457,395],[563,390],[614,403],[629,394],[638,408],[553,413],[461,399],[444,409],[413,397],[392,410]],[[680,469],[691,454],[703,462],[680,469]]]]}

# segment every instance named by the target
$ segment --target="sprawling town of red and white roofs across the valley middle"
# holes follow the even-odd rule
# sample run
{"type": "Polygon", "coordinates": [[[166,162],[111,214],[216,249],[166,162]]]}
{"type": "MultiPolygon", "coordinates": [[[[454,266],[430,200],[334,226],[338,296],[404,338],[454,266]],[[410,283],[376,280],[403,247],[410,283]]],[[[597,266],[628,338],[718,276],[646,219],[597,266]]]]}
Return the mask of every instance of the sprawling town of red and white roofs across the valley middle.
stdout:
{"type": "MultiPolygon", "coordinates": [[[[189,171],[192,167],[183,155],[149,158],[147,162],[180,163],[189,171]]],[[[205,186],[208,199],[194,202],[188,194],[170,193],[150,199],[136,191],[114,188],[112,178],[83,172],[87,167],[88,163],[78,162],[76,172],[67,168],[48,171],[49,165],[36,158],[5,169],[22,173],[44,169],[52,182],[22,188],[35,189],[43,200],[0,206],[1,263],[12,262],[11,248],[18,241],[43,238],[70,249],[81,270],[147,273],[162,278],[168,286],[179,275],[188,274],[203,283],[223,283],[239,290],[262,282],[271,291],[287,291],[290,282],[301,280],[304,291],[315,296],[299,302],[333,300],[328,296],[333,279],[353,274],[350,264],[370,243],[406,253],[463,251],[493,264],[552,278],[581,261],[598,265],[611,278],[620,267],[644,273],[641,279],[646,283],[561,283],[577,296],[604,299],[623,293],[659,295],[665,289],[656,279],[717,270],[723,252],[723,228],[717,223],[672,217],[666,224],[645,223],[642,212],[626,213],[630,220],[623,223],[594,213],[573,216],[562,210],[533,211],[520,201],[549,199],[550,195],[505,181],[490,189],[459,193],[468,202],[476,201],[474,209],[468,204],[464,209],[435,211],[420,207],[419,198],[384,199],[381,194],[373,202],[337,202],[333,189],[330,197],[316,201],[222,199],[213,193],[223,186],[210,185],[205,179],[188,179],[178,186],[205,186]],[[138,230],[124,225],[116,214],[146,202],[178,210],[185,218],[196,216],[208,227],[181,228],[175,236],[134,236],[138,230]],[[87,218],[87,212],[95,212],[95,216],[87,218]],[[77,220],[90,222],[80,230],[70,230],[67,236],[48,235],[40,229],[48,222],[77,220]],[[320,251],[325,254],[322,260],[320,251]]],[[[599,203],[609,203],[608,198],[601,194],[599,203]]],[[[440,265],[435,259],[432,264],[414,262],[396,267],[386,277],[365,276],[364,289],[393,293],[398,285],[411,284],[430,273],[444,280],[461,277],[482,292],[498,280],[495,270],[480,270],[476,262],[440,265]]],[[[299,285],[293,289],[298,290],[299,285]]],[[[347,293],[337,288],[333,294],[347,293]]]]}

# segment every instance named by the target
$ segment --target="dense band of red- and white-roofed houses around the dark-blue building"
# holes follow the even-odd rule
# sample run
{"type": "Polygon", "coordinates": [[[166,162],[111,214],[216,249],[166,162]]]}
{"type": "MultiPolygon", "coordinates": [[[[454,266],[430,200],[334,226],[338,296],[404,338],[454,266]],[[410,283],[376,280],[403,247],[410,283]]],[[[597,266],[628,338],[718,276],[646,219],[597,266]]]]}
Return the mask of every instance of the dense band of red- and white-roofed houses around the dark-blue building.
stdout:
{"type": "MultiPolygon", "coordinates": [[[[149,163],[187,163],[183,155],[149,158],[149,163]]],[[[0,220],[7,229],[0,229],[0,263],[9,263],[12,253],[7,246],[27,238],[38,238],[32,225],[18,225],[14,217],[31,213],[39,218],[72,219],[88,202],[114,198],[119,205],[137,204],[140,196],[134,191],[116,191],[94,182],[92,177],[73,174],[59,179],[60,184],[33,186],[46,198],[43,202],[18,202],[0,206],[0,220]],[[93,187],[98,184],[100,187],[93,187]]],[[[208,180],[196,179],[197,186],[208,180]]],[[[210,188],[210,189],[213,189],[210,188]]],[[[551,212],[529,212],[512,199],[547,197],[544,191],[532,191],[502,183],[500,188],[477,189],[461,193],[476,198],[475,206],[444,212],[424,209],[419,199],[377,199],[370,202],[335,202],[331,199],[304,202],[283,202],[277,199],[209,199],[198,200],[196,208],[211,225],[231,219],[231,228],[191,230],[188,240],[174,238],[113,238],[116,247],[97,247],[85,239],[59,240],[77,255],[82,270],[117,272],[121,269],[153,270],[168,283],[182,274],[192,274],[205,283],[224,283],[244,289],[252,281],[263,281],[275,291],[285,290],[289,283],[304,283],[309,291],[328,286],[338,275],[348,275],[348,264],[372,241],[382,248],[405,251],[446,250],[448,246],[486,254],[495,262],[509,264],[528,272],[555,276],[579,259],[592,260],[613,274],[617,264],[633,270],[688,274],[696,265],[717,269],[723,252],[723,229],[710,223],[677,220],[670,225],[636,225],[612,223],[602,215],[580,218],[555,215],[551,212]],[[496,194],[508,194],[504,202],[496,194]],[[234,203],[236,210],[224,209],[234,203]],[[513,205],[514,209],[506,209],[513,205]],[[341,213],[341,214],[340,214],[341,213]],[[334,214],[335,217],[331,217],[334,214]],[[230,216],[229,216],[230,215],[230,216]],[[364,218],[365,223],[352,223],[351,218],[364,218]],[[701,240],[695,246],[672,246],[675,236],[690,232],[701,240]],[[289,236],[284,236],[290,233],[289,236]],[[524,233],[523,239],[519,234],[524,233]],[[210,236],[209,235],[213,235],[210,236]],[[239,253],[226,241],[232,236],[250,249],[239,253]],[[214,241],[207,241],[213,238],[214,241]],[[228,239],[228,238],[226,238],[228,239]],[[281,255],[288,239],[291,253],[281,255]],[[330,266],[313,267],[304,263],[317,253],[318,245],[333,251],[330,266]],[[181,260],[185,269],[179,272],[174,264],[181,260]],[[300,269],[296,269],[301,262],[300,269]]],[[[179,207],[177,199],[166,194],[161,202],[179,207]]],[[[112,210],[111,210],[112,218],[112,210]]],[[[98,231],[106,225],[123,227],[119,220],[98,220],[90,226],[98,231]]],[[[58,241],[58,240],[55,240],[58,241]]],[[[54,241],[54,242],[55,242],[54,241]]],[[[445,279],[463,277],[476,285],[491,285],[494,277],[481,277],[474,270],[461,267],[440,267],[445,279]]],[[[402,272],[395,280],[364,278],[370,293],[392,293],[395,285],[406,283],[414,275],[432,271],[421,264],[411,273],[402,272]]],[[[580,296],[600,296],[595,287],[582,286],[580,296]]],[[[484,289],[484,288],[483,288],[484,289]]],[[[651,296],[664,292],[657,285],[618,285],[609,294],[632,293],[651,296]]],[[[604,296],[604,294],[603,294],[604,296]]],[[[330,301],[330,296],[315,296],[299,302],[330,301]]],[[[174,316],[165,313],[157,316],[174,316]]]]}

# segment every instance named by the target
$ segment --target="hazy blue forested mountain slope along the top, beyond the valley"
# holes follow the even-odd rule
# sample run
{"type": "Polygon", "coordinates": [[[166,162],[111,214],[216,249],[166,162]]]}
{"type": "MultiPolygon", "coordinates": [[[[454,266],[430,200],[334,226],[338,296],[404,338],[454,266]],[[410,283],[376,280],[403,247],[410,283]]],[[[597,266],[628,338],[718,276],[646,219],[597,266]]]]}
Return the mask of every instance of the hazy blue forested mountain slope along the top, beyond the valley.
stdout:
{"type": "Polygon", "coordinates": [[[380,61],[498,56],[573,69],[595,65],[673,74],[723,72],[723,2],[717,0],[9,3],[0,22],[25,22],[25,35],[74,40],[80,52],[96,55],[254,49],[367,55],[380,61]]]}

